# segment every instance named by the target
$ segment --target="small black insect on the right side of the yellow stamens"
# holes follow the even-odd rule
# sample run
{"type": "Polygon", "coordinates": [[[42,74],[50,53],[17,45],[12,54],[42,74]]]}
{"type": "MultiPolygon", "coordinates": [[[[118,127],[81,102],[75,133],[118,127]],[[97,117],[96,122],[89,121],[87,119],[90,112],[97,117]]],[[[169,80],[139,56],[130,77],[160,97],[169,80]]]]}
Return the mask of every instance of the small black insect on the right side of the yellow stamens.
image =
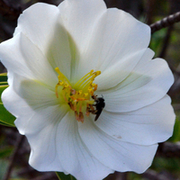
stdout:
{"type": "Polygon", "coordinates": [[[103,97],[97,97],[97,96],[92,96],[92,98],[95,100],[96,104],[94,104],[93,106],[96,107],[95,110],[91,111],[93,114],[96,114],[96,117],[94,119],[94,121],[97,121],[97,119],[99,118],[99,116],[101,115],[102,113],[102,110],[104,109],[105,107],[105,100],[103,97]]]}

